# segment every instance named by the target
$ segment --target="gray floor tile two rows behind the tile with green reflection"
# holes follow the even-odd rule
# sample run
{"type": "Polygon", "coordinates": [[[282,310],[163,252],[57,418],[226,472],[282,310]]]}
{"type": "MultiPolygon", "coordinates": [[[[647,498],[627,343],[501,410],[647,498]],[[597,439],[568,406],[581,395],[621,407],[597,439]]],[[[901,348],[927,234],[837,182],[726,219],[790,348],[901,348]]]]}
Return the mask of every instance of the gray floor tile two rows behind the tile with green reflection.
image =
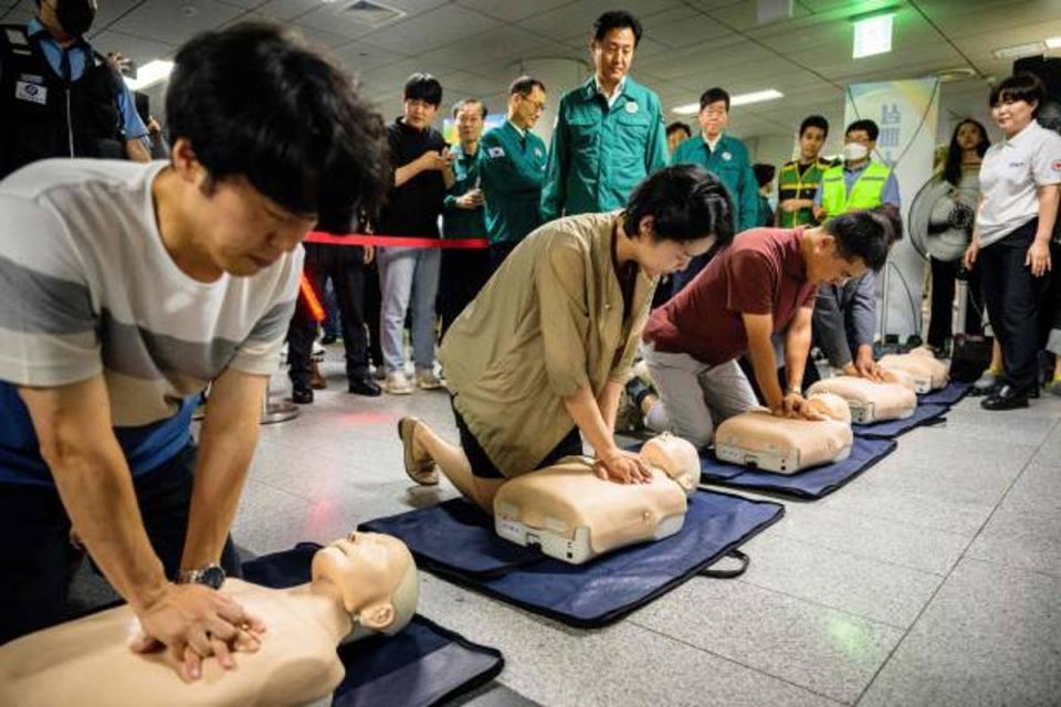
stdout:
{"type": "Polygon", "coordinates": [[[949,571],[969,544],[953,532],[827,509],[786,518],[775,534],[936,574],[949,571]]]}

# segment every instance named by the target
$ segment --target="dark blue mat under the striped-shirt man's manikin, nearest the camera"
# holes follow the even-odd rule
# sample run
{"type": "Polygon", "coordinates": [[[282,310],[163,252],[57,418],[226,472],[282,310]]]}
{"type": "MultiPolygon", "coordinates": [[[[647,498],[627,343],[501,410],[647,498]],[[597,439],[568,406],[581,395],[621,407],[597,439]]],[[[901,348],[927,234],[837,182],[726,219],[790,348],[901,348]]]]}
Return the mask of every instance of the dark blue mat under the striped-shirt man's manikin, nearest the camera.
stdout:
{"type": "MultiPolygon", "coordinates": [[[[301,542],[291,550],[243,563],[243,578],[283,589],[309,581],[309,563],[321,548],[301,542]]],[[[494,679],[505,665],[501,652],[412,618],[401,633],[342,645],[346,677],[335,689],[337,707],[441,705],[494,679]]]]}

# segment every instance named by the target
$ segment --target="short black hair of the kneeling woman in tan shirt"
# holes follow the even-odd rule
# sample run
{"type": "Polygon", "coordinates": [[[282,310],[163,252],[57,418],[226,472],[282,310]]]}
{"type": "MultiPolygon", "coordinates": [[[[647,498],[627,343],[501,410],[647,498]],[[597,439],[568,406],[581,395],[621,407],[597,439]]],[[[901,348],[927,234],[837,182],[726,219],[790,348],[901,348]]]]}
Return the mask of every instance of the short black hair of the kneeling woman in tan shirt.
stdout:
{"type": "Polygon", "coordinates": [[[695,165],[673,165],[637,186],[623,210],[622,229],[638,238],[641,220],[652,217],[656,241],[686,243],[708,235],[714,247],[733,241],[733,201],[718,178],[695,165]]]}

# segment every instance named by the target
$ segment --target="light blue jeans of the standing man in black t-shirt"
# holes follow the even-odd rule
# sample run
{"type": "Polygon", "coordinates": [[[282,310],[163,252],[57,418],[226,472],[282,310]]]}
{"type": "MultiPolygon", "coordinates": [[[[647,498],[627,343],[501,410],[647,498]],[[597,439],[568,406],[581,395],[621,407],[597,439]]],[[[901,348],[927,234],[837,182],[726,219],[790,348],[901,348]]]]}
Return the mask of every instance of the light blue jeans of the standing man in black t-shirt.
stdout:
{"type": "Polygon", "coordinates": [[[379,284],[382,295],[379,329],[387,372],[406,366],[402,333],[412,307],[412,356],[418,370],[434,368],[434,300],[439,292],[439,249],[380,247],[379,284]]]}

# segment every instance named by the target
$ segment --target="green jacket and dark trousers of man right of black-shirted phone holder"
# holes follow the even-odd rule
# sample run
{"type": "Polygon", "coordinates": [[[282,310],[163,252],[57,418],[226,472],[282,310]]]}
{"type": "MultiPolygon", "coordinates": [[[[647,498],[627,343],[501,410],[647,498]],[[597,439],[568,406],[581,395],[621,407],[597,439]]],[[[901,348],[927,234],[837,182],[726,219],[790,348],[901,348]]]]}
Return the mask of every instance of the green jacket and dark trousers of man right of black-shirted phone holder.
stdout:
{"type": "MultiPolygon", "coordinates": [[[[442,201],[442,238],[449,240],[486,238],[486,219],[483,208],[461,209],[459,197],[481,187],[480,159],[482,144],[468,155],[461,146],[453,148],[453,176],[456,180],[442,201]]],[[[482,250],[448,249],[442,251],[442,275],[439,279],[439,315],[442,334],[450,328],[480,288],[486,282],[490,252],[482,250]]]]}

